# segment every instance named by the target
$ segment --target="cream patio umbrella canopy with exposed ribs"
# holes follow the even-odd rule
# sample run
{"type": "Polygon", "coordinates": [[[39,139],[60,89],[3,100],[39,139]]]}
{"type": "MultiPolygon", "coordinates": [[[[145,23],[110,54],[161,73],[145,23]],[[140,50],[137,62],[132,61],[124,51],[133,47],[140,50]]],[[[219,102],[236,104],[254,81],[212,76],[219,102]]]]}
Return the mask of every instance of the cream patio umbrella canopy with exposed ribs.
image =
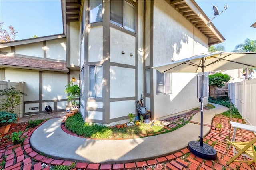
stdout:
{"type": "Polygon", "coordinates": [[[170,62],[160,66],[152,67],[161,73],[166,72],[204,72],[217,70],[232,70],[237,68],[256,67],[256,52],[234,53],[234,52],[208,52],[170,62]]]}

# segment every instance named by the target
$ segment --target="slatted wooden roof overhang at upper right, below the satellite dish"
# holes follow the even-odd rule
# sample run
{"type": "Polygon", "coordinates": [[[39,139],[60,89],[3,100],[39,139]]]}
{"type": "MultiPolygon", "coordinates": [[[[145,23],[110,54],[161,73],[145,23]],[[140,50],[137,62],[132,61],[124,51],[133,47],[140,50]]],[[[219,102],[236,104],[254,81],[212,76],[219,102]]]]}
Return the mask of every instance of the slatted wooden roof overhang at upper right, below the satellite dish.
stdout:
{"type": "Polygon", "coordinates": [[[208,38],[208,46],[224,42],[225,38],[194,0],[166,0],[166,2],[169,2],[170,6],[208,38]]]}

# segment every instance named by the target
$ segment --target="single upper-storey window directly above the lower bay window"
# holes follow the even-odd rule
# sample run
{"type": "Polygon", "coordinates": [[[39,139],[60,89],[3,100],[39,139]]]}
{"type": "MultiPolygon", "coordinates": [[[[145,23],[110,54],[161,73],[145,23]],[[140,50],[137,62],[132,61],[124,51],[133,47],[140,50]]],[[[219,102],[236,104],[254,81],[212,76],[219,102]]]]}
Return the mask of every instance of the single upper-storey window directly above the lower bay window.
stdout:
{"type": "Polygon", "coordinates": [[[102,21],[102,0],[90,0],[89,23],[102,21]]]}

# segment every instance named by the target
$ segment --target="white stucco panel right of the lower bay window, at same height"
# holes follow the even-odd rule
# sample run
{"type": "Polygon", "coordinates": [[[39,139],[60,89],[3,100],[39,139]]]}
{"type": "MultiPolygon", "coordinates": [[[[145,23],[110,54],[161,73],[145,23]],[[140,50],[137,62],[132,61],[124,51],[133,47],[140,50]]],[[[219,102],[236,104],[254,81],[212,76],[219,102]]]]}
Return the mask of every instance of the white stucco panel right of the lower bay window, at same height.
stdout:
{"type": "Polygon", "coordinates": [[[110,98],[135,96],[135,70],[110,66],[110,98]]]}

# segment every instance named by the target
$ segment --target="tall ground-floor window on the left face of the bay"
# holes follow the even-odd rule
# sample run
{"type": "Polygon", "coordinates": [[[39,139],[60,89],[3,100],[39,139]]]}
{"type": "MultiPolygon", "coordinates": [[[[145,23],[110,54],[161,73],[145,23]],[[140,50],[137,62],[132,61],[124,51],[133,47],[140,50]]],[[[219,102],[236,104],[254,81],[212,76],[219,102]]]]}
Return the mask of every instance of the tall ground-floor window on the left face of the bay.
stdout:
{"type": "Polygon", "coordinates": [[[89,67],[89,97],[102,97],[102,66],[89,67]]]}

